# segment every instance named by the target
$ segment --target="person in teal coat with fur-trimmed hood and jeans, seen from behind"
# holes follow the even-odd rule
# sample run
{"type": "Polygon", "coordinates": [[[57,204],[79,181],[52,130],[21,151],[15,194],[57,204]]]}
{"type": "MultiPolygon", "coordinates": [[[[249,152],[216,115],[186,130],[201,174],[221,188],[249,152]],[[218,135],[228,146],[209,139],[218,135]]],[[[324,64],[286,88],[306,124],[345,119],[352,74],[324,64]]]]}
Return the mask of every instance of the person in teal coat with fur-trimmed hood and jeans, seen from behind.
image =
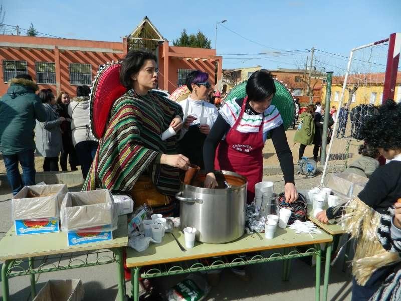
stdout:
{"type": "Polygon", "coordinates": [[[46,120],[45,108],[35,94],[37,90],[39,87],[30,75],[20,74],[9,80],[9,89],[0,99],[0,152],[13,195],[26,185],[35,185],[35,120],[46,120]]]}

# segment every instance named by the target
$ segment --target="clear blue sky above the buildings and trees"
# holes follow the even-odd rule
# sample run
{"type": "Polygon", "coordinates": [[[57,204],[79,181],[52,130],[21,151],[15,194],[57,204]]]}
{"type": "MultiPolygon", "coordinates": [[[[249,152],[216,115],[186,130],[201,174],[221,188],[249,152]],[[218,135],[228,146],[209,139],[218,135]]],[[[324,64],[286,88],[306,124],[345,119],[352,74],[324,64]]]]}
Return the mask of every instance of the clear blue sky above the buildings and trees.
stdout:
{"type": "MultiPolygon", "coordinates": [[[[121,41],[148,16],[169,41],[188,33],[205,33],[218,54],[266,53],[316,49],[349,55],[350,49],[401,32],[401,1],[0,1],[4,23],[70,39],[121,41]],[[234,31],[256,43],[234,34],[234,31]]],[[[172,44],[172,42],[171,42],[172,44]]],[[[384,51],[374,59],[383,60],[384,51]]],[[[224,68],[262,65],[296,68],[310,56],[308,50],[276,55],[224,56],[224,68]],[[290,54],[290,55],[289,55],[290,54]],[[260,59],[259,57],[263,57],[260,59]],[[255,59],[259,58],[259,59],[255,59]]],[[[345,67],[346,58],[315,52],[325,70],[345,67]]]]}

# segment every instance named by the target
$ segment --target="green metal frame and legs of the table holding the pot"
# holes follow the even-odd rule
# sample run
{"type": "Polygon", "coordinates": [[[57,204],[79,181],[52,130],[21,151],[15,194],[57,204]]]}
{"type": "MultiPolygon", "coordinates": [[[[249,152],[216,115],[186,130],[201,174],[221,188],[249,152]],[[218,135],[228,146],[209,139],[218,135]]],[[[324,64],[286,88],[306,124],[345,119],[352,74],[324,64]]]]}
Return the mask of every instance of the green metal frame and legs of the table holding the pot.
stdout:
{"type": "MultiPolygon", "coordinates": [[[[327,289],[328,280],[330,272],[330,258],[331,258],[331,248],[332,244],[327,243],[326,247],[326,259],[325,259],[325,270],[324,270],[324,280],[323,280],[323,300],[327,300],[327,289]]],[[[155,278],[170,275],[186,274],[191,272],[199,271],[211,271],[215,269],[222,269],[235,266],[245,266],[257,263],[265,263],[271,261],[283,260],[283,270],[282,279],[284,281],[289,279],[291,259],[308,257],[316,255],[316,275],[315,275],[315,300],[320,300],[320,270],[321,270],[321,249],[319,244],[315,244],[314,248],[309,248],[305,252],[299,252],[294,250],[294,247],[288,247],[283,249],[283,254],[274,253],[269,257],[264,257],[263,255],[255,255],[252,258],[245,260],[243,258],[236,258],[231,262],[228,261],[226,256],[222,256],[222,259],[214,261],[210,265],[204,265],[201,262],[196,262],[189,265],[190,260],[174,262],[174,265],[168,267],[166,264],[152,265],[151,268],[145,272],[140,272],[141,267],[136,266],[131,268],[131,296],[134,301],[139,300],[139,277],[142,278],[155,278]]]]}

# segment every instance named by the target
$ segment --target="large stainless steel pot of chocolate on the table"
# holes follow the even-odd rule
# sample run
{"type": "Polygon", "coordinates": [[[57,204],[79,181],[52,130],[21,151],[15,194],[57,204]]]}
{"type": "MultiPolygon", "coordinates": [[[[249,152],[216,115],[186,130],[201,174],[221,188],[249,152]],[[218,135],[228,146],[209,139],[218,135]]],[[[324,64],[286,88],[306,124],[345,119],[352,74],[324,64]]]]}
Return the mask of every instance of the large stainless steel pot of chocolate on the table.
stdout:
{"type": "Polygon", "coordinates": [[[181,178],[181,192],[176,198],[180,204],[181,230],[195,227],[196,240],[218,244],[244,234],[247,179],[228,171],[215,175],[221,188],[203,188],[204,173],[199,173],[192,185],[183,184],[181,178]]]}

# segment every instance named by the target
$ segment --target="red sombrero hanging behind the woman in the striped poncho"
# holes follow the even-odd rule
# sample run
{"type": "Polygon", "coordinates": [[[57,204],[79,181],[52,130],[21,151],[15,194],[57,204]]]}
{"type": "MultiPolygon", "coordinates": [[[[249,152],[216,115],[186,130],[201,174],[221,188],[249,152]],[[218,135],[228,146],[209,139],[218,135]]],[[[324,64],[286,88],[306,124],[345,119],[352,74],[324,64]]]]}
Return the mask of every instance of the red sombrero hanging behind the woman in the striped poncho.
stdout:
{"type": "Polygon", "coordinates": [[[100,139],[104,135],[110,108],[127,89],[120,83],[121,65],[112,62],[95,77],[90,95],[90,121],[92,134],[100,139]]]}

